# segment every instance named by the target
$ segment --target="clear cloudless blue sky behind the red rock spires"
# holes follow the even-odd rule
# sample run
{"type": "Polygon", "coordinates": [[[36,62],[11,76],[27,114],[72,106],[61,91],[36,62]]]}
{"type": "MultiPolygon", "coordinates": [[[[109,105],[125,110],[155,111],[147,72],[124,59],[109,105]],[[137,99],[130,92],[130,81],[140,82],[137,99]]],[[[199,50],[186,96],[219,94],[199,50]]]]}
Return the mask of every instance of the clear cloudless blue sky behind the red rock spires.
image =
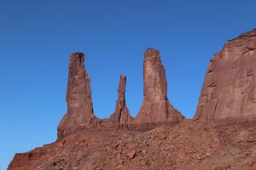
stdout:
{"type": "Polygon", "coordinates": [[[0,169],[15,152],[55,140],[73,52],[86,54],[96,116],[113,112],[121,74],[136,116],[143,52],[154,47],[172,105],[192,117],[209,60],[256,27],[255,8],[254,0],[0,0],[0,169]]]}

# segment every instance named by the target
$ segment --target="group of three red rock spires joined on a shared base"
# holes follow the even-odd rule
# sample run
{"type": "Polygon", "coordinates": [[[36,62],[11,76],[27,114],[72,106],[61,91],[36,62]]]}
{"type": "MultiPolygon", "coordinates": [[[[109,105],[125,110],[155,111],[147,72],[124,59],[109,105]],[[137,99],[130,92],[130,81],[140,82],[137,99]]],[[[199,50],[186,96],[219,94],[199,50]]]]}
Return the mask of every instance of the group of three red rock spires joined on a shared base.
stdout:
{"type": "Polygon", "coordinates": [[[70,57],[67,81],[67,114],[58,127],[58,139],[63,139],[81,129],[129,128],[148,130],[163,123],[177,124],[184,117],[167,99],[166,69],[160,53],[148,48],[144,54],[144,102],[136,118],[130,115],[125,103],[126,76],[119,79],[118,99],[113,115],[99,119],[94,115],[90,77],[84,67],[84,54],[70,57]]]}

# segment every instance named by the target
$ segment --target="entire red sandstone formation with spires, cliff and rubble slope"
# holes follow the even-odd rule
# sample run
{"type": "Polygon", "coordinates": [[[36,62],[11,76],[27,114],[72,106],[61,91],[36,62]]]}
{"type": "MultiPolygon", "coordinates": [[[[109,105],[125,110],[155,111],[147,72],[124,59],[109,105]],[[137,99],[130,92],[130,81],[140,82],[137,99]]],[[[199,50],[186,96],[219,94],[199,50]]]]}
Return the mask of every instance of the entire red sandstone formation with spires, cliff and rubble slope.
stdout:
{"type": "Polygon", "coordinates": [[[58,139],[16,154],[8,170],[256,169],[255,49],[253,30],[215,54],[193,120],[170,104],[156,49],[144,54],[144,101],[137,117],[125,103],[126,76],[120,76],[116,108],[107,119],[94,114],[84,54],[72,54],[58,139]]]}

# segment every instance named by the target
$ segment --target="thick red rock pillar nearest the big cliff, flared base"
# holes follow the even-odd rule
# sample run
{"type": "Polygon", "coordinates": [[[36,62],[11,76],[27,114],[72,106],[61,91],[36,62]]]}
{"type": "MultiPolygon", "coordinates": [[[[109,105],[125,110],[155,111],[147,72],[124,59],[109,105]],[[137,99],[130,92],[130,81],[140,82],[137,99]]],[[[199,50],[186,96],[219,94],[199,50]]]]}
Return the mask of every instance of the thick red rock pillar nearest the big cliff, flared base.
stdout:
{"type": "Polygon", "coordinates": [[[170,105],[167,99],[166,69],[160,53],[148,48],[144,54],[144,101],[136,123],[180,122],[183,116],[170,105]]]}

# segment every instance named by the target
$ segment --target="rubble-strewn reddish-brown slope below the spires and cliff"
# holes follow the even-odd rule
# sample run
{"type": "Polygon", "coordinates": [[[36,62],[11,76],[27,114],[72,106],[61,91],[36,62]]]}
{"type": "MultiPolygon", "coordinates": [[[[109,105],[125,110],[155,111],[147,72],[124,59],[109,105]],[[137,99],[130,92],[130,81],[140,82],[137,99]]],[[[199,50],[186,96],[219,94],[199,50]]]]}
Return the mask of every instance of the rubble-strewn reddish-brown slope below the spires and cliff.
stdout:
{"type": "Polygon", "coordinates": [[[16,155],[8,170],[254,170],[255,129],[181,122],[143,133],[83,131],[16,155]]]}

